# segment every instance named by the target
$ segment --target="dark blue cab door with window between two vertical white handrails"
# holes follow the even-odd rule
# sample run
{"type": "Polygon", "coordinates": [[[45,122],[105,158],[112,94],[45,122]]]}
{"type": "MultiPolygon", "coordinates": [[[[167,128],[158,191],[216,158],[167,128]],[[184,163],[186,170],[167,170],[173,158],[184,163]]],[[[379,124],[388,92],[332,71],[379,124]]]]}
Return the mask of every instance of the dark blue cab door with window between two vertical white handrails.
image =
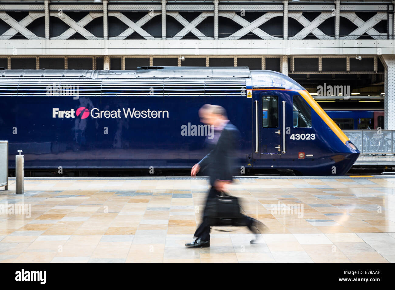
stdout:
{"type": "Polygon", "coordinates": [[[281,154],[282,97],[275,91],[257,94],[254,99],[255,153],[258,158],[281,154]]]}

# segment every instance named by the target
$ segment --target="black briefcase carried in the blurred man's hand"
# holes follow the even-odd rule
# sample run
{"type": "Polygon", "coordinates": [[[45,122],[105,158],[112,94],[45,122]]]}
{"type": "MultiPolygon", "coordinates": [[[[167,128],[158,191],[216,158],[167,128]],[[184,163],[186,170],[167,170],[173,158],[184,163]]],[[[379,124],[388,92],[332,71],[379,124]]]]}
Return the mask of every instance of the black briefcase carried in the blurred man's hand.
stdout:
{"type": "Polygon", "coordinates": [[[205,217],[210,226],[242,225],[244,215],[240,212],[236,196],[217,195],[207,200],[205,217]]]}

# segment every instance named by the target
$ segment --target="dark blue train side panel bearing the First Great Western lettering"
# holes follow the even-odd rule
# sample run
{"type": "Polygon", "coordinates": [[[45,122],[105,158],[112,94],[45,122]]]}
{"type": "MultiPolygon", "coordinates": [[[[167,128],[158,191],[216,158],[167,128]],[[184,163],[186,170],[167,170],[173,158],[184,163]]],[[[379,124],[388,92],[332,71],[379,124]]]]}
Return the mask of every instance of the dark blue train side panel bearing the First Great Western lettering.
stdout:
{"type": "Polygon", "coordinates": [[[240,157],[246,160],[252,129],[251,99],[245,95],[1,97],[0,134],[9,140],[10,168],[15,168],[17,150],[23,150],[25,168],[31,169],[190,168],[207,153],[204,144],[210,136],[194,130],[203,125],[198,110],[205,103],[228,111],[241,132],[240,157]],[[89,116],[83,118],[79,108],[88,109],[89,116]]]}

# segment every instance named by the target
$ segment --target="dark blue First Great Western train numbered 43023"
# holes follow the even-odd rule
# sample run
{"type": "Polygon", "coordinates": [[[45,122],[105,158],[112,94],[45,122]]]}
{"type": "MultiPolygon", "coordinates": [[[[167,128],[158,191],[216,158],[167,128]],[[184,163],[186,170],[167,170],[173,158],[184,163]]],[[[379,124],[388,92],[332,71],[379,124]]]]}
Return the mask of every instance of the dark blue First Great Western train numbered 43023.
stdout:
{"type": "Polygon", "coordinates": [[[297,82],[248,67],[139,67],[130,71],[0,71],[0,139],[9,167],[191,168],[210,128],[210,103],[241,132],[242,169],[344,175],[354,144],[297,82]]]}

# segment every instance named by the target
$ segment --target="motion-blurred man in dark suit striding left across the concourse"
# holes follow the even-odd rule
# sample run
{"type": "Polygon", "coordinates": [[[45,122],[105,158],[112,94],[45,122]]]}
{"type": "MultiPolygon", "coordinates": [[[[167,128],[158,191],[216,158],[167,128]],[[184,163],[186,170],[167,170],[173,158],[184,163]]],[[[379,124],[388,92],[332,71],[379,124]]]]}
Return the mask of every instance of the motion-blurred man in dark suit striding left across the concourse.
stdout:
{"type": "MultiPolygon", "coordinates": [[[[226,184],[231,183],[233,180],[232,174],[232,159],[233,154],[239,146],[239,130],[228,120],[226,110],[221,106],[204,105],[199,110],[201,122],[207,125],[216,127],[214,131],[214,138],[216,144],[209,154],[207,154],[199,163],[195,164],[191,170],[191,176],[196,174],[202,169],[207,167],[210,176],[211,188],[209,190],[208,198],[221,195],[224,191],[226,184]]],[[[206,200],[207,206],[207,200],[206,200]]],[[[206,211],[206,209],[205,209],[206,211]]],[[[254,234],[259,231],[254,224],[259,223],[251,217],[244,216],[244,223],[254,234]]],[[[203,221],[197,228],[194,237],[195,241],[186,243],[185,246],[189,248],[210,247],[210,225],[203,213],[203,221]]],[[[253,243],[255,240],[252,240],[253,243]]]]}

